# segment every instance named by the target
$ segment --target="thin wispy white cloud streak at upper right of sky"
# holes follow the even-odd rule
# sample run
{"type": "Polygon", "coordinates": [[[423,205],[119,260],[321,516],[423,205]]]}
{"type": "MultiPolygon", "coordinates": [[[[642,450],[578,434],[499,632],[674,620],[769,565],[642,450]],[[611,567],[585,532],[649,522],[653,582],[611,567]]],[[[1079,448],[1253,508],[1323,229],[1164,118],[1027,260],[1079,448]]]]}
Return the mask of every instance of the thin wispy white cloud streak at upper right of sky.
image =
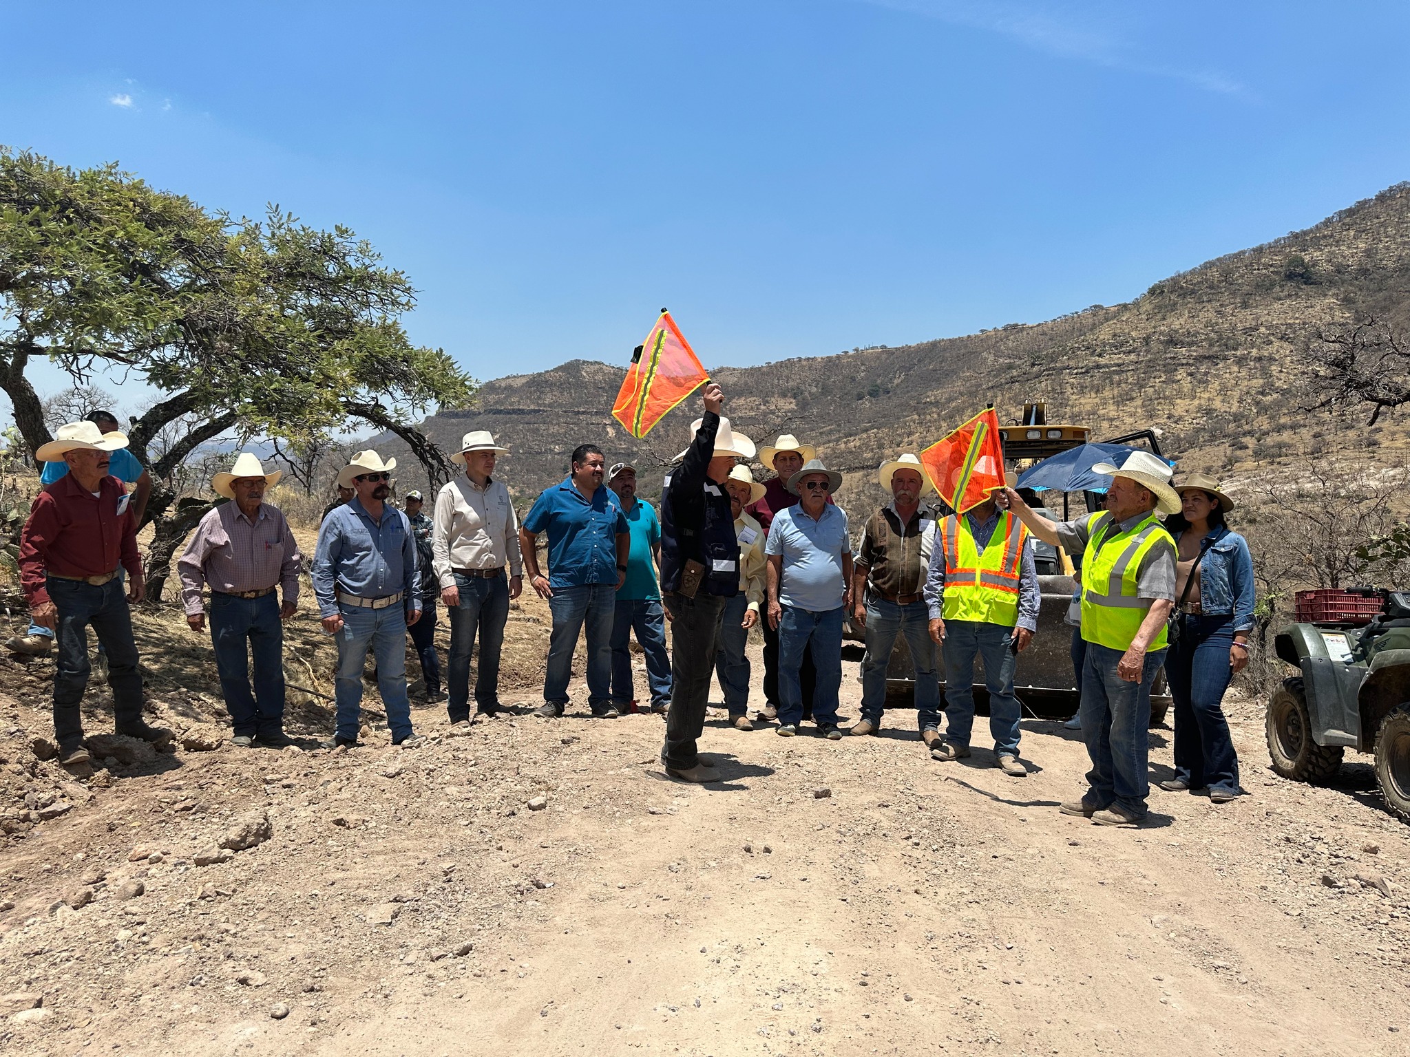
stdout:
{"type": "MultiPolygon", "coordinates": [[[[1055,0],[1005,1],[990,0],[859,0],[874,7],[935,18],[938,21],[984,30],[1010,37],[1034,51],[1060,58],[1091,62],[1111,69],[1125,69],[1159,78],[1172,78],[1194,85],[1206,92],[1242,94],[1245,86],[1218,70],[1190,69],[1151,62],[1138,47],[1117,32],[1124,8],[1112,8],[1105,17],[1093,20],[1090,13],[1073,10],[1072,4],[1055,0]],[[1096,21],[1096,24],[1093,24],[1096,21]]],[[[1090,8],[1089,8],[1090,11],[1090,8]]]]}

